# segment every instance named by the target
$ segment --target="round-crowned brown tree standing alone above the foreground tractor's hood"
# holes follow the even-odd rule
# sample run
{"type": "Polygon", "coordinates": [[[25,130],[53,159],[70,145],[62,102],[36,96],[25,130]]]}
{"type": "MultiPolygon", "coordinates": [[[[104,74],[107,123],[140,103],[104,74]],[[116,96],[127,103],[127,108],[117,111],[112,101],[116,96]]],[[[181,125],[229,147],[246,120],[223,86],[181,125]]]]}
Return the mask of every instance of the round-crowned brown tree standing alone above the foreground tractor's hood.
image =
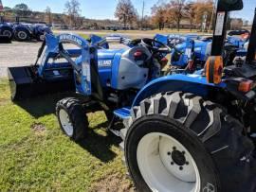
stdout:
{"type": "Polygon", "coordinates": [[[127,24],[132,24],[137,19],[137,10],[134,8],[131,0],[119,0],[115,11],[115,17],[123,23],[124,28],[127,24]]]}

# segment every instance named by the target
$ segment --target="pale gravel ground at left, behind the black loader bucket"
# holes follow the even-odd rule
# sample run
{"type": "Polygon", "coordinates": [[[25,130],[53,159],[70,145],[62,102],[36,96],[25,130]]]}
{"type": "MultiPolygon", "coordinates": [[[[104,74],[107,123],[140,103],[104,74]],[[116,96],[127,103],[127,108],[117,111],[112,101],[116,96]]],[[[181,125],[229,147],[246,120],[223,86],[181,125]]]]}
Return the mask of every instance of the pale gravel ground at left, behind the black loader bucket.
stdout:
{"type": "Polygon", "coordinates": [[[0,77],[7,77],[10,66],[30,65],[36,60],[41,43],[0,44],[0,77]]]}

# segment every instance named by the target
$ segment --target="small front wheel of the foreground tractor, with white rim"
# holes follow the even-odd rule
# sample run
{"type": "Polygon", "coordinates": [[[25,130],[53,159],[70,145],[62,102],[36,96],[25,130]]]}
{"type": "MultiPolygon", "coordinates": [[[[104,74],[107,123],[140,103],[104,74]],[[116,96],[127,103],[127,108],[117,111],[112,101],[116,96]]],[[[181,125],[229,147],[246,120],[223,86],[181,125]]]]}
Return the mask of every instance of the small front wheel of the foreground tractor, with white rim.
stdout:
{"type": "Polygon", "coordinates": [[[62,131],[71,140],[80,141],[86,136],[89,122],[79,99],[67,97],[60,100],[56,115],[62,131]]]}

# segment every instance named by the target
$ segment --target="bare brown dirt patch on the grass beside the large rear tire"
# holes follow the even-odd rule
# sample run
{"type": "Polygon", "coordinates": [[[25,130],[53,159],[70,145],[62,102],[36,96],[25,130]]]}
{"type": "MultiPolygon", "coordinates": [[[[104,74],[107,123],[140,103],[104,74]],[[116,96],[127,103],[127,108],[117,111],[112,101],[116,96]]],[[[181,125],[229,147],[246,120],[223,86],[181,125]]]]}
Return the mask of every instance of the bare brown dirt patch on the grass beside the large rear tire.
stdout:
{"type": "Polygon", "coordinates": [[[125,176],[115,173],[92,186],[92,192],[135,192],[135,188],[125,176]]]}

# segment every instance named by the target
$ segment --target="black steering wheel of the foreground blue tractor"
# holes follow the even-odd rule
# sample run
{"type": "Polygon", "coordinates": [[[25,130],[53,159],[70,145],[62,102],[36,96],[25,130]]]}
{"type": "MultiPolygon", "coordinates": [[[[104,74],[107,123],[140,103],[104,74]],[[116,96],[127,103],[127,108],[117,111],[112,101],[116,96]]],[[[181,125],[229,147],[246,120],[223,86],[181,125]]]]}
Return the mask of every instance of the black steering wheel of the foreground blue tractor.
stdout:
{"type": "Polygon", "coordinates": [[[172,48],[170,46],[168,46],[167,44],[163,44],[161,42],[158,42],[154,39],[143,38],[143,39],[141,39],[140,44],[146,46],[153,53],[167,54],[167,53],[170,53],[172,51],[172,48]]]}

